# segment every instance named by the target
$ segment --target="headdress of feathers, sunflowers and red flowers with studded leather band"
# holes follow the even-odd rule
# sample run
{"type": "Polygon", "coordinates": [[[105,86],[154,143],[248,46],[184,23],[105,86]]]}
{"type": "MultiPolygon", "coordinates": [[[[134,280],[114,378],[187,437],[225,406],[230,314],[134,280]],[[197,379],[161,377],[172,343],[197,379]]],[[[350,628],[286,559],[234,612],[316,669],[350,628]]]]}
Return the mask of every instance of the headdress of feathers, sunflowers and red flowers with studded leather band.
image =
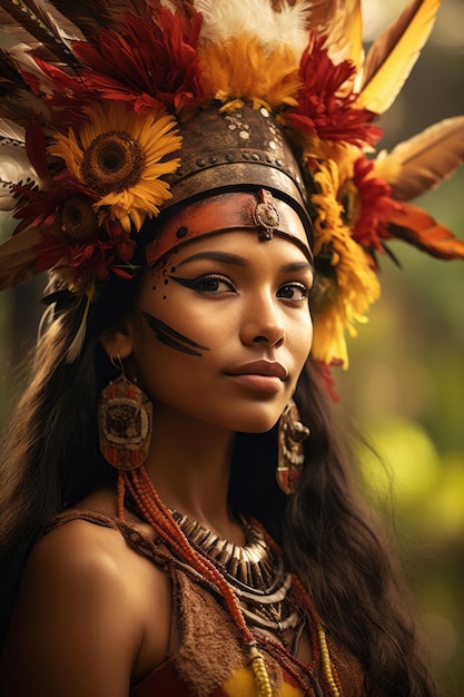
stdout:
{"type": "Polygon", "coordinates": [[[407,203],[463,161],[464,117],[374,151],[438,6],[413,0],[364,60],[361,0],[0,0],[20,40],[0,55],[0,206],[19,220],[0,288],[52,271],[91,302],[134,275],[141,229],[156,246],[160,212],[269,189],[313,220],[313,354],[346,364],[389,239],[464,257],[407,203]]]}

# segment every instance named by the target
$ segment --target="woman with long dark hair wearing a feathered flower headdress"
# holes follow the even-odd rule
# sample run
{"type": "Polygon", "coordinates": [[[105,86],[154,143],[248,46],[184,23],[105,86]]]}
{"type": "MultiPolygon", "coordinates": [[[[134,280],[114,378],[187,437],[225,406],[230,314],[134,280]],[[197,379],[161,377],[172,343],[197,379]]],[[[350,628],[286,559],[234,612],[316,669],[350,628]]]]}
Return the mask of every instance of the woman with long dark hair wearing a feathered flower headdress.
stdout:
{"type": "Polygon", "coordinates": [[[53,285],[2,465],[2,689],[435,695],[324,367],[385,239],[425,234],[365,159],[373,110],[335,35],[290,50],[305,3],[257,3],[240,33],[233,2],[226,38],[230,3],[178,4],[105,8],[100,33],[81,6],[65,39],[48,18],[66,72],[11,55],[43,126],[1,283],[53,285]]]}

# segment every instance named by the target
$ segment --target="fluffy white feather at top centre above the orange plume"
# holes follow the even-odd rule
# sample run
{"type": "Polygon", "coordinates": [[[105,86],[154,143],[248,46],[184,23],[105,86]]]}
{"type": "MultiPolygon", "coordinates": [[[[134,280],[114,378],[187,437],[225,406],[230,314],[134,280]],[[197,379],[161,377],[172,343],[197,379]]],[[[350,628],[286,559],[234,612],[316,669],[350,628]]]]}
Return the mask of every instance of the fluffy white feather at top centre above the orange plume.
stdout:
{"type": "Polygon", "coordinates": [[[269,50],[289,46],[298,59],[308,42],[310,7],[309,0],[303,0],[275,12],[269,0],[195,1],[195,9],[205,18],[201,38],[220,45],[230,37],[248,33],[269,50]]]}

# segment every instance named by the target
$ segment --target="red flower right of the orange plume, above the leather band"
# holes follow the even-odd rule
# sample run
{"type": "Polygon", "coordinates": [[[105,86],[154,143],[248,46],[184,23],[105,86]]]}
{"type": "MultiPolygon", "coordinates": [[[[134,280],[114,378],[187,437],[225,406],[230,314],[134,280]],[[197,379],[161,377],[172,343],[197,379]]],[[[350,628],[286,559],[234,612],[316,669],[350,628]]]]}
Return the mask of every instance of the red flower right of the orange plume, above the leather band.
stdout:
{"type": "Polygon", "coordinates": [[[312,36],[299,66],[303,87],[298,106],[285,114],[285,121],[323,140],[345,140],[358,147],[373,145],[382,130],[369,124],[369,111],[353,106],[356,95],[349,80],[356,72],[355,66],[349,60],[335,65],[325,42],[325,37],[312,36]]]}

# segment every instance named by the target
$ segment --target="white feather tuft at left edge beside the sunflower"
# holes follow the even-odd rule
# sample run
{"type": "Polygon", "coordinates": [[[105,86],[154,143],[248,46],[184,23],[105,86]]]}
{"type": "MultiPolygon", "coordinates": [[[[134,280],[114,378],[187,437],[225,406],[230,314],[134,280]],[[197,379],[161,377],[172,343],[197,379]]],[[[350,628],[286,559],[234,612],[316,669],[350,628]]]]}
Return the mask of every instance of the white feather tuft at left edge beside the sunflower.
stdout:
{"type": "Polygon", "coordinates": [[[11,210],[14,207],[11,186],[30,180],[41,184],[29,161],[26,147],[17,140],[0,139],[0,210],[11,210]]]}

